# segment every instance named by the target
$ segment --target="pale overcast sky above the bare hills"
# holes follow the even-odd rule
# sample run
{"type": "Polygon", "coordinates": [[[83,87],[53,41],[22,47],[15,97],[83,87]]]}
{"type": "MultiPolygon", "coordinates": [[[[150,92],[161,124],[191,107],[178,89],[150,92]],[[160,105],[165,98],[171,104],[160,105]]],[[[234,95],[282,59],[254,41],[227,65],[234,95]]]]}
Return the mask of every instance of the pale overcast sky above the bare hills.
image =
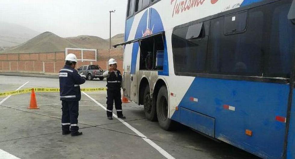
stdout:
{"type": "Polygon", "coordinates": [[[0,0],[0,21],[61,37],[94,35],[109,38],[124,33],[127,0],[0,0]]]}

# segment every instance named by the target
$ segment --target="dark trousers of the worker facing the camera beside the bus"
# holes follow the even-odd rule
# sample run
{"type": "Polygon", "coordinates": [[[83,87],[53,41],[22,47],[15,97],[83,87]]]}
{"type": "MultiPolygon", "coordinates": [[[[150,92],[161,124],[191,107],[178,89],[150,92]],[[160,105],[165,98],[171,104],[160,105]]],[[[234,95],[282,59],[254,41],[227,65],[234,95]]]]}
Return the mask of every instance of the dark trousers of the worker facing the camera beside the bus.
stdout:
{"type": "Polygon", "coordinates": [[[117,116],[123,116],[121,90],[107,90],[107,117],[113,116],[113,104],[115,101],[115,108],[117,116]]]}

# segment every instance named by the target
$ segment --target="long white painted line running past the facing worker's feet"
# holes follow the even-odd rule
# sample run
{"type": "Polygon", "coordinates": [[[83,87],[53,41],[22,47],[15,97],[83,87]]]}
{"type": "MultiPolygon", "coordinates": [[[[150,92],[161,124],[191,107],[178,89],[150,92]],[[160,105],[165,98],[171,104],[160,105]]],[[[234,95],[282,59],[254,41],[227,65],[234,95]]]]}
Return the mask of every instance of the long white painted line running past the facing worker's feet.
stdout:
{"type": "MultiPolygon", "coordinates": [[[[105,108],[102,104],[100,104],[98,101],[96,101],[94,98],[92,98],[90,95],[86,94],[85,92],[82,92],[84,95],[86,95],[88,98],[90,98],[92,101],[94,101],[96,104],[98,104],[101,108],[103,108],[105,111],[107,111],[107,108],[105,108]]],[[[124,121],[121,118],[118,118],[116,114],[113,114],[113,117],[118,119],[121,123],[123,123],[125,126],[127,126],[130,130],[132,130],[134,133],[136,133],[138,136],[140,136],[145,142],[150,144],[152,147],[154,147],[157,151],[159,151],[163,156],[165,156],[167,159],[175,159],[173,156],[171,156],[168,152],[166,152],[163,148],[158,146],[156,143],[151,141],[151,139],[148,139],[144,134],[139,132],[137,129],[135,129],[133,126],[131,126],[129,123],[124,121]]]]}

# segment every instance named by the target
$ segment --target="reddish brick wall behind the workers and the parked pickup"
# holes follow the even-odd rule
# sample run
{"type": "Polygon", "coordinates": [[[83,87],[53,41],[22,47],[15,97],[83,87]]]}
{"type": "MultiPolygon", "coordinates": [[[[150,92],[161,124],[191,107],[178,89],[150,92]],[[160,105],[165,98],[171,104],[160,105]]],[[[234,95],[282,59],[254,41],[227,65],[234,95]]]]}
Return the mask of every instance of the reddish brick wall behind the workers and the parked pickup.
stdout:
{"type": "MultiPolygon", "coordinates": [[[[80,50],[68,50],[81,59],[80,50]]],[[[107,69],[107,61],[115,58],[118,69],[123,70],[123,49],[97,50],[97,61],[78,61],[76,69],[82,65],[98,64],[107,69]]],[[[0,71],[29,73],[58,73],[64,67],[65,52],[0,54],[0,71]]],[[[95,60],[95,51],[83,51],[83,59],[95,60]]]]}

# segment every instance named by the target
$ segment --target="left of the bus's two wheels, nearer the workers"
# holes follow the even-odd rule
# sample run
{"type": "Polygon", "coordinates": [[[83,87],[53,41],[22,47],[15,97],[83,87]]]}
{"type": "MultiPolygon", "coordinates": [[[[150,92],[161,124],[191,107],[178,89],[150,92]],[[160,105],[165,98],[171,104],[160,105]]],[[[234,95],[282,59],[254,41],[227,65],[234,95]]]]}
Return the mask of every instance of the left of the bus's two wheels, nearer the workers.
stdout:
{"type": "Polygon", "coordinates": [[[149,86],[146,86],[144,89],[143,106],[144,106],[144,114],[147,120],[150,120],[150,121],[157,120],[156,106],[152,102],[149,86]]]}

